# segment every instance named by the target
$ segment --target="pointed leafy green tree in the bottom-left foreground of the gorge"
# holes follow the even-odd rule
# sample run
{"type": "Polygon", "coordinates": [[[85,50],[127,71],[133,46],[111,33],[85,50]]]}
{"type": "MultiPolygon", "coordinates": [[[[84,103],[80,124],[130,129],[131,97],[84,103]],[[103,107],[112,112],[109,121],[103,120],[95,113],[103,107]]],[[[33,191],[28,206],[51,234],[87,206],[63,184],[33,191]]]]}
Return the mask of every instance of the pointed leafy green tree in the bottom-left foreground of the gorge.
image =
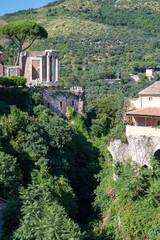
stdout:
{"type": "MultiPolygon", "coordinates": [[[[21,189],[22,220],[15,239],[82,239],[80,229],[56,201],[54,180],[45,167],[33,172],[33,183],[21,189]]],[[[58,182],[57,182],[58,184],[58,182]]]]}

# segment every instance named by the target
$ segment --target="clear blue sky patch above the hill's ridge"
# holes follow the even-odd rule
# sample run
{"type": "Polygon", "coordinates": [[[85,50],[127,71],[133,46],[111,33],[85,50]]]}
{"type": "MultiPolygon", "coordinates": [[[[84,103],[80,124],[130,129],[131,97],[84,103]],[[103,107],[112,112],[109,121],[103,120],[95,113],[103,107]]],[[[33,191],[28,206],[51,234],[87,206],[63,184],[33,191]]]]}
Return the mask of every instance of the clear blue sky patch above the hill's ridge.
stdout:
{"type": "Polygon", "coordinates": [[[0,0],[0,16],[29,8],[40,8],[54,0],[0,0]]]}

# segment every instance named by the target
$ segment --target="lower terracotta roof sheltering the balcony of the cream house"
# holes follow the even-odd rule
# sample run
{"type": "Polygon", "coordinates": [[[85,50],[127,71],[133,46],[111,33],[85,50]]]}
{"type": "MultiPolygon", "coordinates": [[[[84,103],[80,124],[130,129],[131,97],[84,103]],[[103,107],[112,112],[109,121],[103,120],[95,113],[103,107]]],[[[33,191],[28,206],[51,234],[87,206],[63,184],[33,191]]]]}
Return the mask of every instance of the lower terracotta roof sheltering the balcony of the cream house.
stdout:
{"type": "Polygon", "coordinates": [[[151,117],[160,117],[160,107],[159,108],[140,108],[134,111],[126,112],[126,116],[151,116],[151,117]]]}

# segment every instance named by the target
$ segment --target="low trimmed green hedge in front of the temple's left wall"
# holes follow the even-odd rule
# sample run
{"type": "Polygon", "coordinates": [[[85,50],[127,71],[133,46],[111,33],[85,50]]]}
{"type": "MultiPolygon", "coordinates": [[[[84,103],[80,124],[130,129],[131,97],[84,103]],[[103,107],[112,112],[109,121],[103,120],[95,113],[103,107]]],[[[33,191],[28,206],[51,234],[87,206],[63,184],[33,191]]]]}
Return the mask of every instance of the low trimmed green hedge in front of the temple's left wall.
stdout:
{"type": "Polygon", "coordinates": [[[14,87],[14,86],[22,86],[24,87],[27,82],[27,79],[24,77],[3,77],[0,76],[0,85],[4,87],[14,87]]]}

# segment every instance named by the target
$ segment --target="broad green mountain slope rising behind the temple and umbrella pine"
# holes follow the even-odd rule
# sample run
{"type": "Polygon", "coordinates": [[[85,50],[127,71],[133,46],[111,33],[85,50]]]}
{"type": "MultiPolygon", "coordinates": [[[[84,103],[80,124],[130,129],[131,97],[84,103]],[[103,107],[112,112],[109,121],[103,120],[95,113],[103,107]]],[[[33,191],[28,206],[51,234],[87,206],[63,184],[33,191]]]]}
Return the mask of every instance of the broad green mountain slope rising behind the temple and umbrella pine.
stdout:
{"type": "MultiPolygon", "coordinates": [[[[83,85],[85,78],[116,78],[159,67],[159,0],[59,0],[5,14],[0,24],[19,19],[32,19],[48,30],[48,39],[31,49],[59,50],[60,78],[66,83],[83,85]]],[[[0,43],[3,62],[13,64],[14,46],[0,43]]]]}

